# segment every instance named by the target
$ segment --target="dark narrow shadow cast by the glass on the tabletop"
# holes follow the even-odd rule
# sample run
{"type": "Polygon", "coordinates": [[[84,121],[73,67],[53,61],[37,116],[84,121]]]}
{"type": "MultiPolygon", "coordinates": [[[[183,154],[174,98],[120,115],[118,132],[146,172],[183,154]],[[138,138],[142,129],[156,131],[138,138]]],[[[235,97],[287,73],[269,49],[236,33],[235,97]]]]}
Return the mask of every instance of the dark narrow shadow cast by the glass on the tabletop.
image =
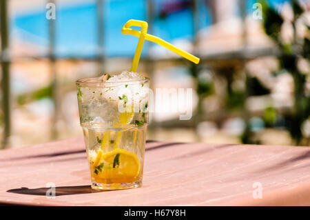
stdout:
{"type": "MultiPolygon", "coordinates": [[[[39,196],[46,196],[46,194],[50,194],[51,188],[18,188],[18,189],[11,189],[6,192],[12,192],[17,194],[33,194],[39,196]]],[[[90,185],[88,186],[60,186],[55,187],[55,196],[63,196],[63,195],[70,195],[70,194],[87,194],[93,192],[100,192],[93,190],[90,185]]]]}

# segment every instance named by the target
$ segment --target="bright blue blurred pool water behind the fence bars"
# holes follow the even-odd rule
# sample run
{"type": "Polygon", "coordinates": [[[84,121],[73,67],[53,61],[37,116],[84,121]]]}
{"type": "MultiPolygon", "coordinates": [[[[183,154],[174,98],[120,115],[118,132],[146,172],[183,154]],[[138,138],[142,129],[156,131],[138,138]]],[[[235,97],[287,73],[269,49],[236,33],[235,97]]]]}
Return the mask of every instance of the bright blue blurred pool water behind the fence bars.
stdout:
{"type": "MultiPolygon", "coordinates": [[[[166,0],[167,1],[167,0],[166,0]]],[[[273,0],[282,3],[285,0],[273,0]]],[[[96,21],[96,1],[72,6],[56,7],[56,55],[58,57],[93,57],[97,54],[98,33],[96,21]]],[[[164,0],[154,1],[155,12],[161,8],[164,0]]],[[[203,2],[203,1],[201,1],[203,2]]],[[[247,1],[247,12],[252,12],[255,0],[247,1]]],[[[104,53],[108,57],[130,56],[134,54],[138,39],[121,34],[121,28],[129,19],[146,20],[145,0],[104,1],[104,53]]],[[[199,27],[211,24],[211,16],[205,4],[199,7],[199,27]]],[[[11,29],[22,30],[20,36],[41,46],[48,46],[48,19],[46,9],[18,15],[11,22],[11,29]]],[[[169,14],[165,19],[155,17],[152,34],[173,41],[174,39],[193,37],[192,11],[185,8],[169,14]]],[[[143,48],[143,55],[147,45],[143,48]]]]}

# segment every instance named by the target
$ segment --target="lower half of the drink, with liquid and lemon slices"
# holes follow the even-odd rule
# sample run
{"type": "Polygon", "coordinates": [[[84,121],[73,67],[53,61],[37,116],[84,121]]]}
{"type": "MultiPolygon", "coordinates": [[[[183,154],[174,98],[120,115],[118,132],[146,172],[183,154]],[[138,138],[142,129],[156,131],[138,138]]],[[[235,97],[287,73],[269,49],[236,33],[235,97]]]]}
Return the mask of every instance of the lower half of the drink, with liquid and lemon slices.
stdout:
{"type": "Polygon", "coordinates": [[[92,188],[141,186],[147,125],[83,128],[92,188]]]}

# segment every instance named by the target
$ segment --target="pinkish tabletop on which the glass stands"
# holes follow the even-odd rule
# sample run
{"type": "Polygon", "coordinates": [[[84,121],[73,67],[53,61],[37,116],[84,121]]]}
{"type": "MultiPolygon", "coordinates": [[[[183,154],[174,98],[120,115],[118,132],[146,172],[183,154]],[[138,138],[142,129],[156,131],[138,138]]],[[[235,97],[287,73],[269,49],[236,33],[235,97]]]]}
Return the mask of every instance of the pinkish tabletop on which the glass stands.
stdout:
{"type": "Polygon", "coordinates": [[[90,188],[83,138],[66,139],[1,150],[0,203],[302,206],[310,205],[309,167],[309,147],[147,141],[143,187],[97,192],[90,188]],[[56,186],[54,199],[46,197],[49,183],[56,186]]]}

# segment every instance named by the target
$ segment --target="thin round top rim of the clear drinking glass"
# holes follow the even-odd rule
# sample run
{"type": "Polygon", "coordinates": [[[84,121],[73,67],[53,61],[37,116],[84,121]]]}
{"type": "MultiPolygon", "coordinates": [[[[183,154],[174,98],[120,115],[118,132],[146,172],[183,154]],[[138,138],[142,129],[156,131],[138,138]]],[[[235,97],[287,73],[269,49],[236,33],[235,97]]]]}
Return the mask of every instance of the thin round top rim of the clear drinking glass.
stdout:
{"type": "Polygon", "coordinates": [[[83,81],[85,79],[92,79],[90,78],[83,78],[78,79],[75,81],[76,86],[79,87],[99,87],[99,88],[109,88],[109,87],[116,87],[122,84],[128,83],[132,84],[139,84],[139,83],[147,83],[149,82],[149,78],[145,77],[144,79],[134,79],[134,80],[127,80],[127,81],[114,81],[114,82],[90,82],[90,81],[83,81]]]}

